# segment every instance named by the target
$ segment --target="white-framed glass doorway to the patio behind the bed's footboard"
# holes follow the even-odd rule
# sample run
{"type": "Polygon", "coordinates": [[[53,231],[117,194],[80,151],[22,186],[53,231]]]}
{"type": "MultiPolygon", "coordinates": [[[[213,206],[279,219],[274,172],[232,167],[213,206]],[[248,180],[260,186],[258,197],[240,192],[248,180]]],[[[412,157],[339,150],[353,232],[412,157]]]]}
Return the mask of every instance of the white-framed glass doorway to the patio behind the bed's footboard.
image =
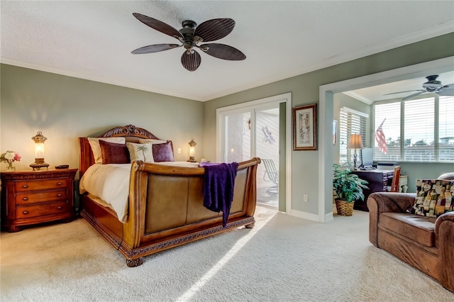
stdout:
{"type": "Polygon", "coordinates": [[[217,110],[217,161],[240,162],[260,157],[257,202],[284,212],[290,208],[287,206],[290,149],[286,140],[290,97],[291,94],[284,94],[217,110]]]}

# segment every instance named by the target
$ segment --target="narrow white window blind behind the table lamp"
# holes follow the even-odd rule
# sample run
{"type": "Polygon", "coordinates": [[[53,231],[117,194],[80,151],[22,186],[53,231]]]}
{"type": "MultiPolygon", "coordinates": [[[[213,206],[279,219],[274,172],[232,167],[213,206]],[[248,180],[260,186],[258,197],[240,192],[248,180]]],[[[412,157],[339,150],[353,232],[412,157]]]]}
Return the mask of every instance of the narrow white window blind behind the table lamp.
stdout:
{"type": "MultiPolygon", "coordinates": [[[[366,147],[367,113],[355,111],[351,108],[341,108],[339,121],[339,162],[353,162],[354,150],[347,149],[350,134],[360,134],[362,145],[366,147]]],[[[359,159],[358,159],[359,160],[359,159]]]]}

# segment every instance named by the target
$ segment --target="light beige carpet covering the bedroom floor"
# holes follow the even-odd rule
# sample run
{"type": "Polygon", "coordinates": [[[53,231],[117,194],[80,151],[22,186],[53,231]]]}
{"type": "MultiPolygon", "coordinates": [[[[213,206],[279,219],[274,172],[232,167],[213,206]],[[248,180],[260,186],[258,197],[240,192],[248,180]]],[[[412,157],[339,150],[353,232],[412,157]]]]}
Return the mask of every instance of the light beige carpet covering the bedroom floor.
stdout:
{"type": "Polygon", "coordinates": [[[367,239],[368,215],[314,223],[258,207],[252,230],[124,258],[85,220],[1,233],[1,301],[454,301],[367,239]]]}

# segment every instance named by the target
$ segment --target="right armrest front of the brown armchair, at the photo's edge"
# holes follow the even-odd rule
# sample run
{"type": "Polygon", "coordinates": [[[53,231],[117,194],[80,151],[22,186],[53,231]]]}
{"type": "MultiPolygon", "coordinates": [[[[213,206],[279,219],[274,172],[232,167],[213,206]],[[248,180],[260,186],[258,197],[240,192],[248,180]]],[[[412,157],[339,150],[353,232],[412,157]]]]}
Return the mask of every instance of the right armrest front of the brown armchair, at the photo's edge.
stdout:
{"type": "Polygon", "coordinates": [[[454,292],[454,212],[444,213],[435,222],[435,245],[440,257],[440,283],[454,292]]]}

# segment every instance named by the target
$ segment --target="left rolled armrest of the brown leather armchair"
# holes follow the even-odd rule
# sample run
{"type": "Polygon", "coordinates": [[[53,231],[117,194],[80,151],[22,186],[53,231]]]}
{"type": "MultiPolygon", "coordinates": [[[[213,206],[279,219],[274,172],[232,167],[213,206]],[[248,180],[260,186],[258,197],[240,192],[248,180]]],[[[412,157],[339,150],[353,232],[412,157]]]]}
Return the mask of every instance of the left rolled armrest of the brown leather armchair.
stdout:
{"type": "Polygon", "coordinates": [[[369,241],[378,247],[378,223],[384,212],[404,213],[414,204],[416,194],[397,192],[376,192],[367,198],[369,208],[369,241]]]}

